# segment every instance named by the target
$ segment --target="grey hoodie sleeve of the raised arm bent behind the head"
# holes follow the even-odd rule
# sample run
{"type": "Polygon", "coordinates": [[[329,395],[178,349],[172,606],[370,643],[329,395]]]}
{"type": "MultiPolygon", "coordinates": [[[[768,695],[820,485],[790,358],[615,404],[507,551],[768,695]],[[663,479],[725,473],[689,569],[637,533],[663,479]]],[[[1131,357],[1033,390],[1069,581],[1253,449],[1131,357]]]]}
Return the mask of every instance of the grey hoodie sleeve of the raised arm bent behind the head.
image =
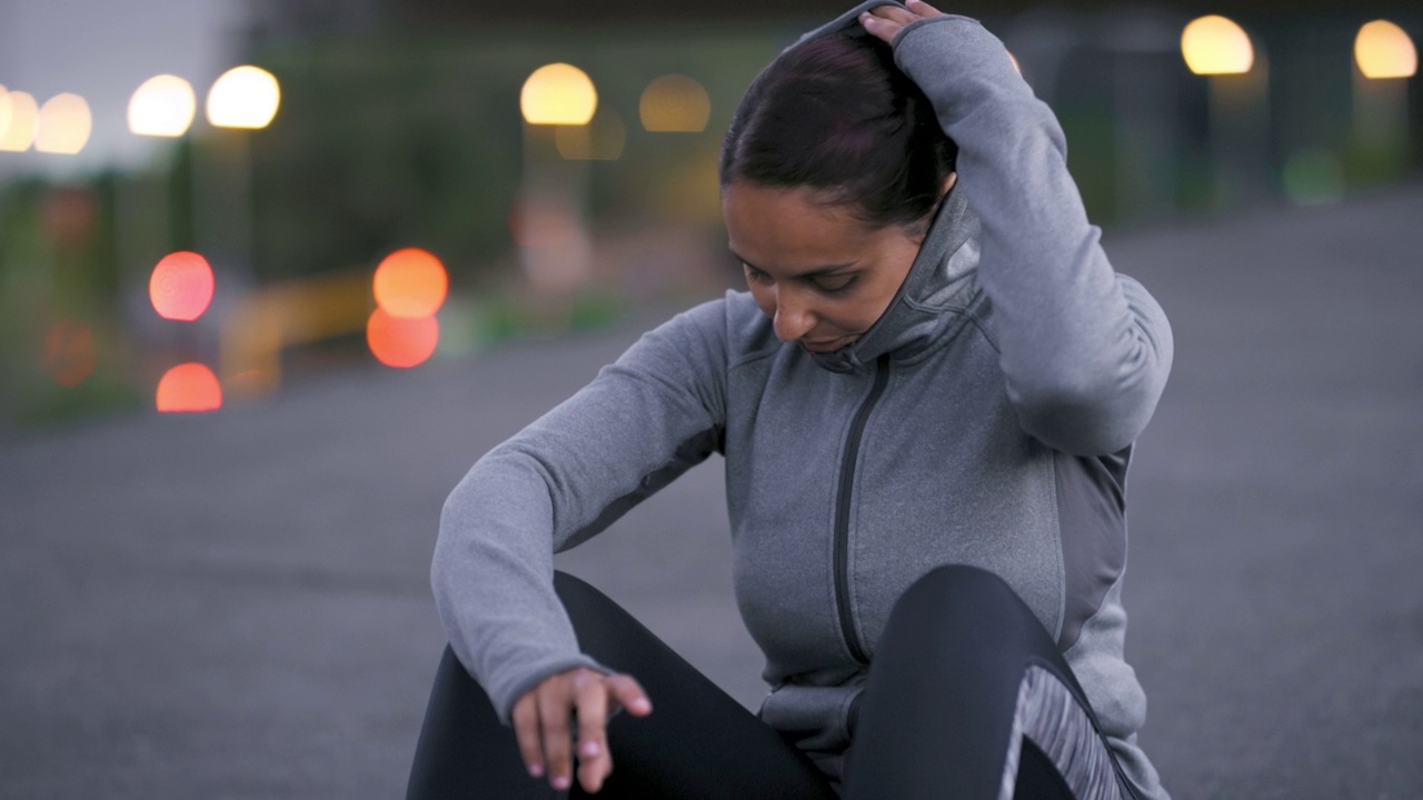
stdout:
{"type": "Polygon", "coordinates": [[[982,222],[979,282],[1023,428],[1077,456],[1121,450],[1165,386],[1171,327],[1107,262],[1056,117],[975,20],[919,20],[894,46],[959,145],[955,191],[982,222]]]}

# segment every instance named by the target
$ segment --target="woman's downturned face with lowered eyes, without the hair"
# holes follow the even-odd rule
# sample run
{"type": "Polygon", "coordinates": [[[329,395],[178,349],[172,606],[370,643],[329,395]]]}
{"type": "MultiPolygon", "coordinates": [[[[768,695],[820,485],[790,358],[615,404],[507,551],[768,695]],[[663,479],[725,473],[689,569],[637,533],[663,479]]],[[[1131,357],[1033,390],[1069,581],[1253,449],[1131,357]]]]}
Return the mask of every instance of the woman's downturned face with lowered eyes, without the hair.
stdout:
{"type": "Polygon", "coordinates": [[[776,336],[813,353],[831,353],[869,330],[924,241],[901,225],[871,228],[808,188],[736,181],[721,189],[721,214],[731,253],[776,336]]]}

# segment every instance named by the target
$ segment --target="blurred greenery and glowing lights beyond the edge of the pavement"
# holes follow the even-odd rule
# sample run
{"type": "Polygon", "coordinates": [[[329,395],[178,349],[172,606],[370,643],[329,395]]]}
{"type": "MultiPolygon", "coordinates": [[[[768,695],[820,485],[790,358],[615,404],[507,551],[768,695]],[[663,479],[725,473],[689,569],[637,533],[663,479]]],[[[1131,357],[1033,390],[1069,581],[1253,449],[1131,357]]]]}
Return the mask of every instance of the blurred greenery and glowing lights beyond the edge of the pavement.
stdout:
{"type": "MultiPolygon", "coordinates": [[[[737,278],[721,132],[835,10],[0,4],[0,437],[707,296],[737,278]]],[[[1410,3],[962,10],[1106,226],[1336,202],[1423,158],[1410,3]]]]}

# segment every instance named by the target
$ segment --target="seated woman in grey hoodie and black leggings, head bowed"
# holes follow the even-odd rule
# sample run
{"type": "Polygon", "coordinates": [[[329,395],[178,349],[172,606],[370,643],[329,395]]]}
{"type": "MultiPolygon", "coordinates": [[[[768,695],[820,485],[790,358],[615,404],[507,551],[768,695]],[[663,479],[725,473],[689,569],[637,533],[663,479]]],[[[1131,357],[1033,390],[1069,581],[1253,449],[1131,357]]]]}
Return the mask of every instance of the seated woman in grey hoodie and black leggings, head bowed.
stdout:
{"type": "Polygon", "coordinates": [[[865,3],[754,81],[721,189],[750,292],[645,335],[445,504],[410,796],[1167,797],[1120,588],[1170,329],[1003,46],[865,3]],[[754,716],[552,569],[713,451],[754,716]]]}

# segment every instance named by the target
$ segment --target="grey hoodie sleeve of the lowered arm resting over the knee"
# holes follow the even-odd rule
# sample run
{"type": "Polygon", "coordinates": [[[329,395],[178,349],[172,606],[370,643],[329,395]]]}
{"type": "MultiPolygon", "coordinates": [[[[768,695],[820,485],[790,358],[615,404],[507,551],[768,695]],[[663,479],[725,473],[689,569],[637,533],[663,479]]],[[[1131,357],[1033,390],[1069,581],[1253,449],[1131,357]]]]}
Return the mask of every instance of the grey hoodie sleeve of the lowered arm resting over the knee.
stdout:
{"type": "Polygon", "coordinates": [[[717,448],[724,313],[713,302],[480,458],[450,494],[431,565],[455,655],[509,723],[514,703],[585,656],[554,592],[554,552],[598,534],[717,448]]]}

